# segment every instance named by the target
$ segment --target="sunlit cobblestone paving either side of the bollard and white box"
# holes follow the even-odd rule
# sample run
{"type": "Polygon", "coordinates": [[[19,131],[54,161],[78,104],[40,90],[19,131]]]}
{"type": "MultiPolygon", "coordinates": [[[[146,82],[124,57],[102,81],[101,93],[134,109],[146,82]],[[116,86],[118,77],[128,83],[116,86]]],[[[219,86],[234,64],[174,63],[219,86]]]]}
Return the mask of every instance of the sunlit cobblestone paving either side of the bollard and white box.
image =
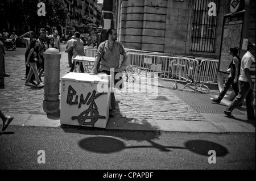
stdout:
{"type": "MultiPolygon", "coordinates": [[[[42,108],[44,89],[24,85],[24,55],[5,57],[5,62],[6,73],[11,74],[11,76],[5,78],[5,89],[0,89],[0,109],[6,113],[46,115],[42,108]]],[[[67,74],[67,71],[69,71],[68,56],[67,53],[61,52],[60,79],[67,74]]],[[[115,90],[117,99],[117,110],[114,111],[115,117],[207,121],[170,90],[161,86],[151,86],[141,91],[140,87],[143,85],[144,80],[140,77],[136,77],[136,79],[135,83],[125,82],[129,87],[134,87],[133,92],[115,90]],[[139,92],[136,92],[138,90],[139,92]],[[151,99],[150,95],[156,92],[159,96],[165,96],[168,101],[151,99]]],[[[61,100],[60,96],[59,99],[61,100]]]]}

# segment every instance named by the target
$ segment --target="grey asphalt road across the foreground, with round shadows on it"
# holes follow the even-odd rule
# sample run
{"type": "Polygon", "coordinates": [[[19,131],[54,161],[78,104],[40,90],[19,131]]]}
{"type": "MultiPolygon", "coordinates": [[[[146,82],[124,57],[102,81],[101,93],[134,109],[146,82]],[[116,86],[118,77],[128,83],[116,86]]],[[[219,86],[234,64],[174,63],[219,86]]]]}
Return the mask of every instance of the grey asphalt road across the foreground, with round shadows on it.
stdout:
{"type": "Polygon", "coordinates": [[[0,169],[255,169],[255,133],[18,127],[0,133],[0,169]],[[40,152],[43,150],[43,152],[40,152]],[[212,158],[216,152],[216,163],[212,158]],[[45,163],[43,162],[45,155],[45,163]],[[211,157],[210,157],[211,156],[211,157]]]}

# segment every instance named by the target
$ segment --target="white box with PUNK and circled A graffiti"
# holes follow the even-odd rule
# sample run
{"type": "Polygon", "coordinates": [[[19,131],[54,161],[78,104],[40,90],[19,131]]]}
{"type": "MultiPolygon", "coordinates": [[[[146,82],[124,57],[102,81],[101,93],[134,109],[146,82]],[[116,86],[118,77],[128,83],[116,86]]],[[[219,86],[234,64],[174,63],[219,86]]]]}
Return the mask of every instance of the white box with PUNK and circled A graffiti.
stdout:
{"type": "Polygon", "coordinates": [[[111,75],[68,73],[61,78],[60,123],[106,128],[111,75]]]}

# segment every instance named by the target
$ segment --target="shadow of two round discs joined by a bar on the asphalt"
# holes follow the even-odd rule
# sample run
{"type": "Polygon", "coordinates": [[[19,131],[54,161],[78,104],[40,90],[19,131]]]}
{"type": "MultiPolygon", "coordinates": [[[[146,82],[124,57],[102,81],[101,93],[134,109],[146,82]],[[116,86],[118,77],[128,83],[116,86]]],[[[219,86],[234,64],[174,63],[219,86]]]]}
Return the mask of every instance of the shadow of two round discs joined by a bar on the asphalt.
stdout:
{"type": "Polygon", "coordinates": [[[126,146],[125,143],[118,138],[109,136],[93,136],[81,139],[78,145],[81,149],[93,152],[93,153],[114,153],[125,149],[146,149],[155,148],[164,152],[171,152],[173,149],[189,150],[193,153],[200,154],[209,157],[214,151],[216,157],[225,157],[229,151],[222,145],[215,142],[206,140],[191,140],[184,143],[184,147],[181,146],[166,146],[160,145],[152,140],[146,140],[151,145],[137,145],[126,146]]]}

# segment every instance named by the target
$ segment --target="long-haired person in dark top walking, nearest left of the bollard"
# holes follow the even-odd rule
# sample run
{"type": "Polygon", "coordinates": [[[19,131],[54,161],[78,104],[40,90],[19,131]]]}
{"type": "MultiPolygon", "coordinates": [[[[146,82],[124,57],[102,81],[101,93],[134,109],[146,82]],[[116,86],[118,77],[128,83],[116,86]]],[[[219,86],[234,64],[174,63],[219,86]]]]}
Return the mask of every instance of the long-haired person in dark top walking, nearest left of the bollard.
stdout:
{"type": "Polygon", "coordinates": [[[36,66],[36,62],[39,61],[38,55],[39,55],[39,50],[38,50],[38,46],[39,43],[36,39],[32,39],[31,40],[31,44],[30,44],[30,50],[29,50],[29,54],[27,57],[27,62],[26,65],[30,66],[30,72],[27,75],[27,79],[25,82],[26,86],[32,86],[32,83],[30,83],[30,78],[32,76],[32,74],[35,74],[35,79],[36,82],[38,83],[38,87],[44,87],[43,83],[40,82],[39,76],[38,76],[38,68],[36,66]]]}

